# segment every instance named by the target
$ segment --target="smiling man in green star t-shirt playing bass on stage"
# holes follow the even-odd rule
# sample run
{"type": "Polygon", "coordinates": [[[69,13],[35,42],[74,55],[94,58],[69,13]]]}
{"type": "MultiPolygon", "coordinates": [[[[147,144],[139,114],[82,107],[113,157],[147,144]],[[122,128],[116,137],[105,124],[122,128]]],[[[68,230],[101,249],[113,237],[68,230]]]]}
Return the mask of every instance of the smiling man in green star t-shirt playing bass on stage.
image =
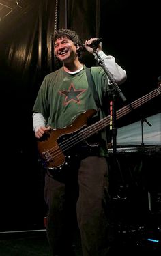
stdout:
{"type": "MultiPolygon", "coordinates": [[[[94,54],[93,48],[90,46],[94,40],[96,38],[85,41],[86,50],[92,54],[94,54]]],[[[110,91],[109,79],[102,67],[92,67],[93,86],[96,86],[100,102],[98,111],[87,80],[86,67],[79,59],[81,40],[75,31],[59,29],[53,35],[53,44],[55,56],[63,63],[63,66],[44,78],[33,106],[33,128],[35,137],[40,141],[43,141],[45,134],[50,137],[53,128],[55,132],[57,129],[62,132],[60,135],[63,133],[73,135],[73,131],[83,126],[82,119],[84,122],[84,118],[78,118],[82,113],[86,115],[89,109],[95,110],[90,119],[94,119],[95,116],[99,119],[104,117],[103,101],[110,91]]],[[[115,62],[113,56],[105,55],[100,44],[96,50],[113,75],[113,79],[118,84],[123,83],[126,80],[126,71],[115,62]]],[[[87,121],[89,121],[88,118],[87,121]]],[[[83,256],[108,254],[109,197],[106,130],[101,130],[97,135],[91,139],[92,147],[84,140],[84,143],[78,143],[77,147],[74,147],[80,139],[75,133],[73,139],[58,142],[57,145],[59,141],[57,139],[61,137],[58,136],[55,139],[56,147],[53,147],[46,156],[44,187],[44,198],[48,206],[46,229],[54,256],[73,255],[72,231],[76,224],[75,216],[81,235],[83,256]],[[58,154],[55,150],[57,147],[58,154]],[[65,155],[68,147],[71,147],[70,156],[65,155]],[[62,162],[63,165],[58,173],[56,168],[56,174],[54,174],[55,168],[50,168],[50,159],[56,152],[55,161],[57,162],[60,149],[62,151],[64,149],[65,163],[62,162]],[[72,160],[67,168],[65,164],[68,163],[68,157],[72,160]],[[61,173],[61,169],[65,171],[61,173]]]]}

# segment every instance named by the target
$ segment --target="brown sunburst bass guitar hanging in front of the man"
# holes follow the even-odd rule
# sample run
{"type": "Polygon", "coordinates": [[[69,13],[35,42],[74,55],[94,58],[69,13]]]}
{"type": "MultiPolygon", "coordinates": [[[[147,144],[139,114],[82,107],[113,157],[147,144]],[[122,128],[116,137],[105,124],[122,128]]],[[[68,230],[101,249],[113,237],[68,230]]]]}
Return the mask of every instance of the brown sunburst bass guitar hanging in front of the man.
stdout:
{"type": "MultiPolygon", "coordinates": [[[[116,119],[120,119],[124,115],[130,113],[133,109],[138,108],[138,106],[141,106],[142,104],[145,104],[145,102],[158,96],[160,91],[161,86],[127,106],[123,106],[123,108],[116,112],[116,119]]],[[[110,124],[110,115],[108,115],[98,122],[88,126],[88,120],[96,115],[96,112],[97,111],[94,109],[84,111],[69,126],[50,129],[38,140],[38,152],[44,168],[62,169],[63,165],[68,165],[68,160],[71,158],[70,150],[72,148],[74,149],[74,147],[81,142],[87,143],[87,138],[110,124]]],[[[94,147],[95,145],[89,146],[94,147]]]]}

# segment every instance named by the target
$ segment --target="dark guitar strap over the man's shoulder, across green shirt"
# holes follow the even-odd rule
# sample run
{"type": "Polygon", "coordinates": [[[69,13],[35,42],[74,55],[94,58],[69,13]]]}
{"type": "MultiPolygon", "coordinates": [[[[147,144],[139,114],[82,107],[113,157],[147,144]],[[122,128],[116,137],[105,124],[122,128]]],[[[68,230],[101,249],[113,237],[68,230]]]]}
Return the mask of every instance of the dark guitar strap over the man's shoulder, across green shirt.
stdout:
{"type": "Polygon", "coordinates": [[[85,70],[86,70],[86,74],[87,74],[87,81],[89,83],[89,87],[91,88],[93,98],[96,102],[96,105],[98,106],[98,109],[100,109],[100,101],[98,100],[98,94],[97,94],[97,91],[96,91],[96,85],[94,83],[93,76],[91,74],[91,68],[85,67],[85,70]]]}

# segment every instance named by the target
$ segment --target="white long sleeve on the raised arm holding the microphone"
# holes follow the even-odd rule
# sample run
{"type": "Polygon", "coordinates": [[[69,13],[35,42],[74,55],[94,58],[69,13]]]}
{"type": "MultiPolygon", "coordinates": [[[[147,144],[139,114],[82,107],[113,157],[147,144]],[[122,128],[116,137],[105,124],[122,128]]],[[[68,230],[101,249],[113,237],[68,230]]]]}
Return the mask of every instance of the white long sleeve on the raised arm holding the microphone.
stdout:
{"type": "MultiPolygon", "coordinates": [[[[102,50],[98,52],[98,55],[101,57],[101,59],[104,61],[104,64],[108,68],[108,71],[113,76],[113,79],[116,81],[118,85],[121,85],[124,81],[126,81],[126,70],[123,70],[121,66],[119,66],[115,58],[111,55],[106,55],[102,50]]],[[[95,59],[97,60],[98,57],[95,54],[95,59]]]]}

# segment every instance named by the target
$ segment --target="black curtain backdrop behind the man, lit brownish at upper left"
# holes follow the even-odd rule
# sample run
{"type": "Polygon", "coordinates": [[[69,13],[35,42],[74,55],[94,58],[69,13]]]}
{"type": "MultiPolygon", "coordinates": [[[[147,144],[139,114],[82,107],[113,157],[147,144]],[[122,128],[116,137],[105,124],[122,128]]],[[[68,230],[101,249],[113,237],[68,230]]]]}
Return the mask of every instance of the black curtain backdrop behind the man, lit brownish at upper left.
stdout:
{"type": "MultiPolygon", "coordinates": [[[[129,102],[156,89],[160,70],[159,8],[153,1],[27,1],[0,22],[1,218],[0,231],[43,227],[44,173],[33,134],[32,108],[42,79],[57,69],[51,36],[74,29],[84,43],[102,37],[106,53],[128,74],[121,86],[129,102]],[[55,23],[55,10],[57,17],[55,23]]],[[[87,66],[96,65],[84,54],[87,66]]],[[[118,98],[117,105],[123,102],[118,98]]],[[[124,117],[118,126],[160,112],[160,98],[124,117]]]]}

